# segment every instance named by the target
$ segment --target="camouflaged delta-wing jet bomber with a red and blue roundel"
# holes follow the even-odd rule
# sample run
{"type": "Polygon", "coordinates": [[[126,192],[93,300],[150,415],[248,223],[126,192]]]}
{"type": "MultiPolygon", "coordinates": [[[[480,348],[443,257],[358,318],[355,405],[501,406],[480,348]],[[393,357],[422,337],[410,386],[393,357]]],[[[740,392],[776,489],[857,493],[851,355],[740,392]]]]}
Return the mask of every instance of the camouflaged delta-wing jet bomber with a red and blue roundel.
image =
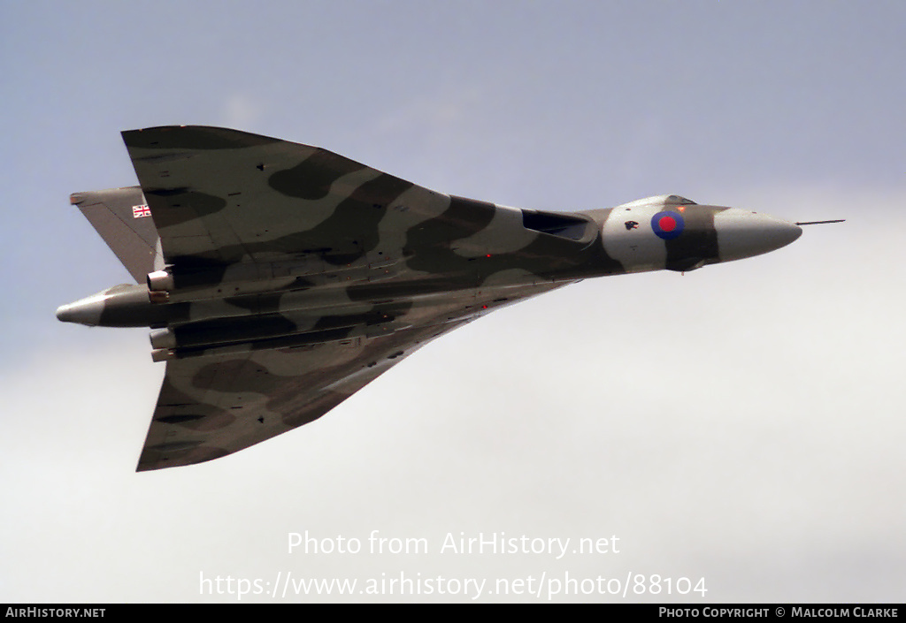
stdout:
{"type": "Polygon", "coordinates": [[[151,329],[167,369],[139,471],[307,424],[430,340],[536,294],[691,271],[802,233],[675,195],[582,212],[498,206],[232,129],[122,136],[140,186],[71,202],[137,283],[57,318],[151,329]]]}

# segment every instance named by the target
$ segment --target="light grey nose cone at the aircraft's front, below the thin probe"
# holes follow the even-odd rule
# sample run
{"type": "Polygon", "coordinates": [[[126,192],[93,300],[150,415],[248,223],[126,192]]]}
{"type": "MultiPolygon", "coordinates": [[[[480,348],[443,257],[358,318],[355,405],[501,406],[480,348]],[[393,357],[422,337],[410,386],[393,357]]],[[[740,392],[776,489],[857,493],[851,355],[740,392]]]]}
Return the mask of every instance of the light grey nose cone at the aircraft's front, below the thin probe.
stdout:
{"type": "Polygon", "coordinates": [[[776,251],[802,235],[799,225],[732,207],[714,216],[714,227],[722,262],[776,251]]]}

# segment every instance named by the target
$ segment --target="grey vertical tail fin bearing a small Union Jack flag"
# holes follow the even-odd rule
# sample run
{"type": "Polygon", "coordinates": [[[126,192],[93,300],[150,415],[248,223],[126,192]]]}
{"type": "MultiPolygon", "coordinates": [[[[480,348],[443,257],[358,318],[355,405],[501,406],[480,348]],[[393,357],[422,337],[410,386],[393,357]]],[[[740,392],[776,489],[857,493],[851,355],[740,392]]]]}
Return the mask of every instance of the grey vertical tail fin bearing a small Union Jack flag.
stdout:
{"type": "Polygon", "coordinates": [[[140,187],[110,188],[74,193],[73,206],[101,235],[138,283],[161,264],[158,230],[140,187]]]}

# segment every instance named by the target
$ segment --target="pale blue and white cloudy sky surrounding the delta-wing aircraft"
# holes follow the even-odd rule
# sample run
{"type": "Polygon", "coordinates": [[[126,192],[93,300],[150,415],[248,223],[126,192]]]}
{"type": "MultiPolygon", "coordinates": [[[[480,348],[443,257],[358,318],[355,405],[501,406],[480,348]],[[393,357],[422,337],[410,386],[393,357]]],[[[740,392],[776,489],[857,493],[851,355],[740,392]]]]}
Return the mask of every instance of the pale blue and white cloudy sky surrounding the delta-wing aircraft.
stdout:
{"type": "Polygon", "coordinates": [[[0,600],[632,570],[705,577],[708,601],[902,601],[904,64],[906,5],[882,0],[0,0],[0,600]],[[67,197],[135,183],[120,130],[189,123],[512,206],[678,193],[848,220],[500,311],[311,427],[134,474],[162,369],[144,331],[54,319],[129,278],[67,197]],[[306,529],[625,550],[287,555],[306,529]]]}

